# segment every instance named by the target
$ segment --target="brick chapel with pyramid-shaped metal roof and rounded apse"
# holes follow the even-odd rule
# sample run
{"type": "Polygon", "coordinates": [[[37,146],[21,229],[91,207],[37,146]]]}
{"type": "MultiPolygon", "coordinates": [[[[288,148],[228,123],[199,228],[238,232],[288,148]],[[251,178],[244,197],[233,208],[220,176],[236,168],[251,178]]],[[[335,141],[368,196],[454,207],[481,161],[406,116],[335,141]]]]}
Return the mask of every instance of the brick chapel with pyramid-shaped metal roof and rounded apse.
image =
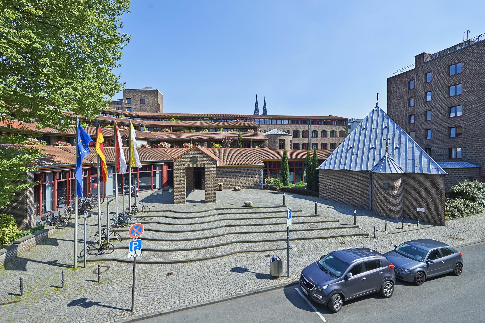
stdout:
{"type": "Polygon", "coordinates": [[[445,223],[445,171],[379,107],[320,165],[320,197],[445,223]]]}

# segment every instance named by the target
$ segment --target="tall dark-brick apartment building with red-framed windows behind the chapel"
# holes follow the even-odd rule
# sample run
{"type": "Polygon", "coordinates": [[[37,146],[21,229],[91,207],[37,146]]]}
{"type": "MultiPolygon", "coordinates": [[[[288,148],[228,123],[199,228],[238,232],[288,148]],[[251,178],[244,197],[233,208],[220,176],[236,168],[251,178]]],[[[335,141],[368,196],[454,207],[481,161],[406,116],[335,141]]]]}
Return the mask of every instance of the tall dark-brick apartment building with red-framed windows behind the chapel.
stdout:
{"type": "Polygon", "coordinates": [[[457,181],[485,181],[485,34],[388,78],[388,115],[457,181]],[[481,166],[481,167],[480,167],[481,166]]]}

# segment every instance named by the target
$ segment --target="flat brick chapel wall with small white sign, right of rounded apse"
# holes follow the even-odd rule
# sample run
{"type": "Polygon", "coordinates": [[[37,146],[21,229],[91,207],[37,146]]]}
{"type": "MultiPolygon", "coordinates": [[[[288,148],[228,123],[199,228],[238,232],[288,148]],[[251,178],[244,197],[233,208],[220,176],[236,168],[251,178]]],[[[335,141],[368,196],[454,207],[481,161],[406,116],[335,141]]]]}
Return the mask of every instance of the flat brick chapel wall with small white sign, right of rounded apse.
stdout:
{"type": "Polygon", "coordinates": [[[404,217],[445,225],[445,175],[411,174],[403,175],[404,217]],[[424,209],[419,212],[417,208],[424,209]]]}

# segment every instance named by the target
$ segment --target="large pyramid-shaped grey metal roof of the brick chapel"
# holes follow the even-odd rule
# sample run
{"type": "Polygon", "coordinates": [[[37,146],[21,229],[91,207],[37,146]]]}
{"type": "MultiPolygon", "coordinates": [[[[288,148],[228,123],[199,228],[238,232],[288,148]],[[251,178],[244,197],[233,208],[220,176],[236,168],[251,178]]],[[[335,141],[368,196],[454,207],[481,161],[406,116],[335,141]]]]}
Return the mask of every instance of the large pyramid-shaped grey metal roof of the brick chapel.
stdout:
{"type": "MultiPolygon", "coordinates": [[[[446,175],[438,163],[378,106],[372,109],[319,168],[370,172],[385,156],[386,143],[389,157],[404,173],[446,175]]],[[[388,159],[383,162],[392,161],[388,159]]]]}

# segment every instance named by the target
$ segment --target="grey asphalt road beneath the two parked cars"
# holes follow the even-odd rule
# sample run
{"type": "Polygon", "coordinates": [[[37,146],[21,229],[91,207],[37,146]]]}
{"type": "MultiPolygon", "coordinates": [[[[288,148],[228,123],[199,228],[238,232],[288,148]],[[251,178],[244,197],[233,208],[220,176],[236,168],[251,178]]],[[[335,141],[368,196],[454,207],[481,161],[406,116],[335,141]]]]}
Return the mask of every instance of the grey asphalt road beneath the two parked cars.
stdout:
{"type": "Polygon", "coordinates": [[[422,286],[398,280],[388,299],[371,294],[344,302],[338,313],[312,303],[291,284],[283,289],[246,296],[146,319],[173,322],[485,322],[485,242],[458,248],[464,268],[460,276],[441,275],[422,286]],[[317,310],[319,313],[317,313],[317,310]]]}

